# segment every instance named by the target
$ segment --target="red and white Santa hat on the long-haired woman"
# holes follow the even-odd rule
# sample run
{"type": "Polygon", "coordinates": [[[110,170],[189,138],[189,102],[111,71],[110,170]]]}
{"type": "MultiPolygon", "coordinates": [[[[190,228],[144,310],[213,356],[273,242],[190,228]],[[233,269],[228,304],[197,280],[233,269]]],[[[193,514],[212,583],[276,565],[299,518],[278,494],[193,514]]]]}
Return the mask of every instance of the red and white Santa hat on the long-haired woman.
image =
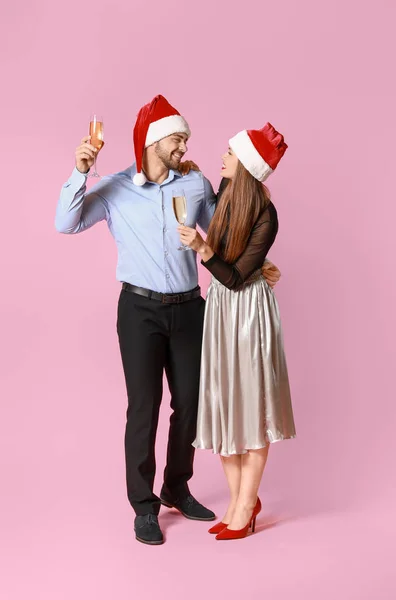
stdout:
{"type": "Polygon", "coordinates": [[[283,135],[271,123],[259,130],[244,129],[229,143],[245,169],[259,181],[265,181],[273,173],[287,150],[283,135]]]}

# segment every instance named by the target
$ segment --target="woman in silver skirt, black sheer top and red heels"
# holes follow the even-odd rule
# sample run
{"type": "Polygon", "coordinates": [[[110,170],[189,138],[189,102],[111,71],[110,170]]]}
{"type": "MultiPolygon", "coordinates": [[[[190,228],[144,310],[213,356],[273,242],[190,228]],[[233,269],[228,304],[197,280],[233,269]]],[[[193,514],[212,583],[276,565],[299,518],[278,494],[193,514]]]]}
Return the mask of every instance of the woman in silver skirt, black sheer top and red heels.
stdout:
{"type": "Polygon", "coordinates": [[[230,489],[217,540],[254,531],[269,444],[295,437],[279,309],[261,265],[278,232],[262,184],[287,149],[269,123],[241,131],[223,156],[222,194],[206,242],[189,227],[181,241],[212,273],[205,310],[196,448],[220,454],[230,489]]]}

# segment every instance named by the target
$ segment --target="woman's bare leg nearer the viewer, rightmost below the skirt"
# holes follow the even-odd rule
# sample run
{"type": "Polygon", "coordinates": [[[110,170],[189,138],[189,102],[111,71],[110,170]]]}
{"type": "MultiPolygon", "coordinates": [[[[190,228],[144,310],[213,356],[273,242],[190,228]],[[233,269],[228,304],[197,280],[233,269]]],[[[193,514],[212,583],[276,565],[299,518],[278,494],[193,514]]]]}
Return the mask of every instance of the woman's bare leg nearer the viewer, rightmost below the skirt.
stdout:
{"type": "Polygon", "coordinates": [[[260,450],[249,450],[241,455],[241,480],[238,501],[229,529],[242,529],[252,516],[258,489],[268,457],[269,444],[260,450]]]}

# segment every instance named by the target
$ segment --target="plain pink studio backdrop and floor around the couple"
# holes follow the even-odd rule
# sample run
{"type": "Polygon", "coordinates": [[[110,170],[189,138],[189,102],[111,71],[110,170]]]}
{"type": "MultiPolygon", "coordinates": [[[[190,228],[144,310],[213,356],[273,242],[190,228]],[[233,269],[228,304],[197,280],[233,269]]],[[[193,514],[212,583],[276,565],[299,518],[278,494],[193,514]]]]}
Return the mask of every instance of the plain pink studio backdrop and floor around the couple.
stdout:
{"type": "MultiPolygon", "coordinates": [[[[391,0],[2,7],[2,599],[395,597],[395,12],[391,0]],[[105,116],[98,169],[118,171],[157,93],[188,118],[188,156],[214,186],[238,130],[270,120],[289,144],[269,181],[270,257],[298,439],[271,449],[259,533],[229,544],[168,510],[164,546],[135,542],[115,246],[103,224],[76,237],[53,225],[90,112],[105,116]]],[[[211,453],[191,487],[222,516],[211,453]]]]}

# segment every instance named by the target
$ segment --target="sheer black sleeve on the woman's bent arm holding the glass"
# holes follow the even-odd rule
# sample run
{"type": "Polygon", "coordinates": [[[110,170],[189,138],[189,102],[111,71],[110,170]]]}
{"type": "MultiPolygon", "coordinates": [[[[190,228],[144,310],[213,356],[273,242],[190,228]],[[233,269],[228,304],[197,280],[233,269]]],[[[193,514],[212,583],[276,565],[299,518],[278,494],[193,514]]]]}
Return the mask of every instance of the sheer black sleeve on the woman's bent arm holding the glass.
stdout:
{"type": "Polygon", "coordinates": [[[239,288],[254,271],[259,269],[278,233],[278,218],[274,205],[269,204],[259,216],[244,252],[234,264],[225,262],[214,254],[202,264],[230,290],[239,288]]]}

